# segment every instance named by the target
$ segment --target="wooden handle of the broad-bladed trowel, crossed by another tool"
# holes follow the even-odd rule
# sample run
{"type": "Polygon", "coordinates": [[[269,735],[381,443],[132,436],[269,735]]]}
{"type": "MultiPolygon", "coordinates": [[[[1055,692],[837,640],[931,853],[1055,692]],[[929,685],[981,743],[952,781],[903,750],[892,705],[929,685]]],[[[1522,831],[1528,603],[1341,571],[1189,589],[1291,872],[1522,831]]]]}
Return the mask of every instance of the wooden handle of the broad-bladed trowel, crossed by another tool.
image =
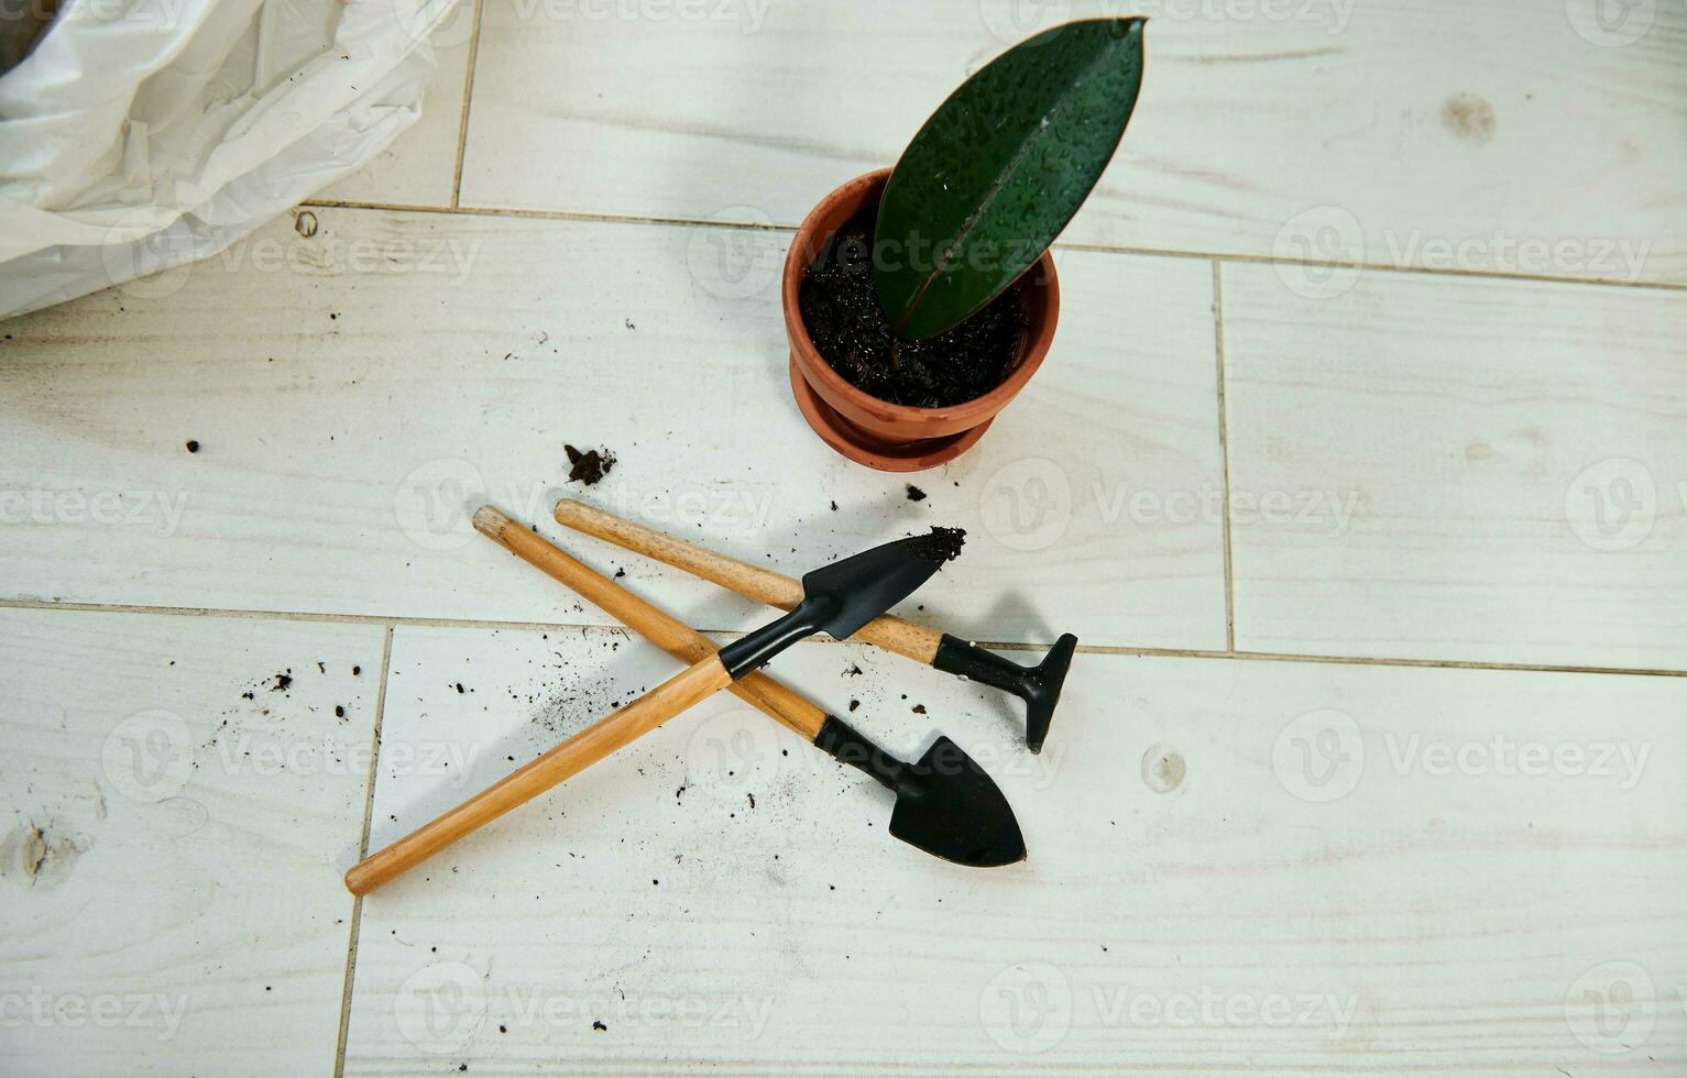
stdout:
{"type": "MultiPolygon", "coordinates": [[[[717,651],[715,644],[702,633],[644,602],[609,577],[575,560],[555,543],[509,520],[499,509],[493,506],[476,509],[474,528],[528,565],[574,589],[582,599],[596,604],[682,663],[700,663],[717,651]]],[[[761,671],[747,673],[734,682],[732,692],[806,741],[813,741],[827,720],[827,714],[810,700],[761,671]]]]}

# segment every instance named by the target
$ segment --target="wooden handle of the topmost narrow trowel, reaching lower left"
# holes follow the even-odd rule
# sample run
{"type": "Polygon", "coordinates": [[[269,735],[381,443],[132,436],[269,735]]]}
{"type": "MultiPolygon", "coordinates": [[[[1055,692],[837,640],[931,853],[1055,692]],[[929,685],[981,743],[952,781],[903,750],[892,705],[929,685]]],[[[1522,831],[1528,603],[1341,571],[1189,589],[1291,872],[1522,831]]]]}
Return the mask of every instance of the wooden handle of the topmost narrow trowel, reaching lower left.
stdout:
{"type": "Polygon", "coordinates": [[[531,801],[570,774],[584,771],[730,683],[732,675],[714,656],[688,666],[525,768],[511,771],[462,805],[423,823],[380,854],[364,857],[346,872],[346,889],[353,894],[375,891],[477,827],[491,823],[516,805],[531,801]]]}

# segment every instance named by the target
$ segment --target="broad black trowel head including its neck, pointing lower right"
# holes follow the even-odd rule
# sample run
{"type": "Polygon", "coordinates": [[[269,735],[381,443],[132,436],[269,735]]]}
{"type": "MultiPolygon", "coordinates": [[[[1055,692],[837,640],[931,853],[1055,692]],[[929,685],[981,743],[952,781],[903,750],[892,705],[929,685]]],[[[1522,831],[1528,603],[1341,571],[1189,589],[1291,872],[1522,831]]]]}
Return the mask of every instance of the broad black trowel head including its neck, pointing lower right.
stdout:
{"type": "Polygon", "coordinates": [[[1026,859],[1026,840],[1007,798],[984,768],[948,737],[940,736],[919,763],[909,764],[842,719],[827,715],[815,746],[896,793],[891,835],[908,845],[973,869],[1026,859]]]}

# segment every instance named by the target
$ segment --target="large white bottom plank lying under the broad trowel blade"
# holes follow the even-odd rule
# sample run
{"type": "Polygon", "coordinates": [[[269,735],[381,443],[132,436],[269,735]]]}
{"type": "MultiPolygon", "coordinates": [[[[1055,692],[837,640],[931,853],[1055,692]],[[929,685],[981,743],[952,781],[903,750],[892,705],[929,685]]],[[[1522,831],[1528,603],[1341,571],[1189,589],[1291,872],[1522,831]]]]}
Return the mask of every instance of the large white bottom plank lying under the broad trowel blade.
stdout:
{"type": "MultiPolygon", "coordinates": [[[[400,628],[371,844],[673,668],[400,628]]],[[[1031,757],[894,656],[774,673],[896,752],[951,734],[1029,860],[891,840],[887,795],[717,697],[364,901],[348,1073],[1687,1061],[1687,680],[1081,655],[1031,757]]]]}

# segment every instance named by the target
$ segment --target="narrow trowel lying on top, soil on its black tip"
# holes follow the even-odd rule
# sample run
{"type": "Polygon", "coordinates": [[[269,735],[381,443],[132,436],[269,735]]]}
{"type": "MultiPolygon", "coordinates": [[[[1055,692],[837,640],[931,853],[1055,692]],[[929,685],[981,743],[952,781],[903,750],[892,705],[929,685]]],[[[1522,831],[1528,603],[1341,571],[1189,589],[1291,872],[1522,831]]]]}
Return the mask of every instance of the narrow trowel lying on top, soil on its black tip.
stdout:
{"type": "Polygon", "coordinates": [[[790,614],[693,663],[462,805],[354,864],[346,872],[346,889],[368,894],[457,838],[712,697],[805,636],[849,636],[911,596],[943,562],[958,553],[958,533],[933,530],[931,535],[884,543],[810,572],[803,577],[803,602],[790,614]]]}

